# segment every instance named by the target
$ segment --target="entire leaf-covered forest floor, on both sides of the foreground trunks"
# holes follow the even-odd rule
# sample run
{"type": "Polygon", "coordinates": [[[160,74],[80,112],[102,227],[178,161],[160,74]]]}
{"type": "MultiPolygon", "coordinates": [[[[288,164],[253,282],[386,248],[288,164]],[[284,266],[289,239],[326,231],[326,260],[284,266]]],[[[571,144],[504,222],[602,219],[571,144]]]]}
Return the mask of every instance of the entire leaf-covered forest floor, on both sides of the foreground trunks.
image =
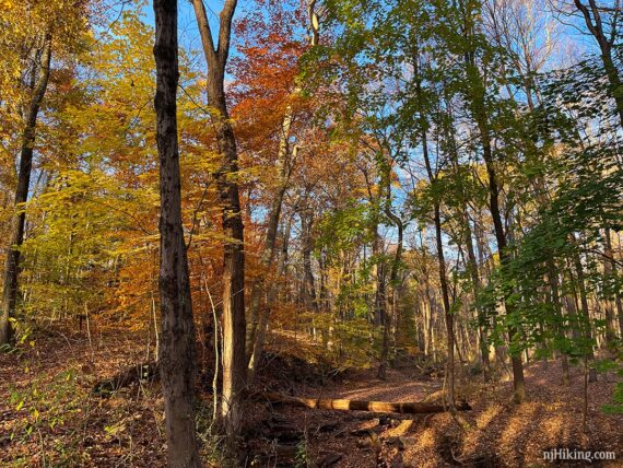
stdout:
{"type": "MultiPolygon", "coordinates": [[[[97,382],[137,363],[153,360],[153,339],[144,334],[107,330],[68,334],[55,328],[0,353],[0,466],[160,467],[164,466],[163,405],[157,383],[96,395],[97,382]]],[[[301,354],[303,347],[293,349],[301,354]]],[[[383,401],[439,401],[443,378],[413,366],[391,370],[386,381],[374,370],[331,373],[299,355],[267,354],[257,389],[270,388],[313,398],[383,401]]],[[[199,353],[201,355],[201,352],[199,353]]],[[[462,416],[463,433],[448,413],[373,414],[249,402],[246,447],[249,466],[333,467],[528,467],[548,466],[552,448],[613,452],[623,466],[623,416],[608,416],[614,376],[589,384],[583,430],[584,373],[572,368],[572,385],[561,384],[556,362],[526,367],[528,401],[510,401],[512,383],[484,385],[461,377],[458,397],[472,406],[462,416]],[[280,442],[275,442],[280,441],[280,442]],[[285,449],[283,449],[285,447],[285,449]],[[291,449],[289,449],[289,447],[291,449]],[[263,454],[259,455],[259,454],[263,454]]],[[[199,434],[203,459],[211,453],[208,425],[211,396],[202,388],[199,434]]],[[[556,466],[588,466],[586,461],[556,466]]]]}

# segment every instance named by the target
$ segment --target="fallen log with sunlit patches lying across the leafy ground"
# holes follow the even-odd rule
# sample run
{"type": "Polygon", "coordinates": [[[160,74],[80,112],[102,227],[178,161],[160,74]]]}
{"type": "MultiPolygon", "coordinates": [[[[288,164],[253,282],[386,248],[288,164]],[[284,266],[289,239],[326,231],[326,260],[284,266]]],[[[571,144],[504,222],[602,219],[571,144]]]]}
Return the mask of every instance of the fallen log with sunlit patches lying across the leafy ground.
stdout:
{"type": "MultiPolygon", "coordinates": [[[[260,398],[270,402],[291,405],[295,407],[304,407],[310,409],[326,409],[338,411],[372,411],[372,412],[395,412],[408,414],[427,414],[435,412],[448,411],[447,407],[438,403],[427,403],[422,401],[360,401],[360,400],[341,400],[325,398],[302,398],[291,397],[277,393],[262,393],[258,395],[260,398]]],[[[467,401],[457,405],[457,410],[468,411],[471,407],[467,401]]]]}

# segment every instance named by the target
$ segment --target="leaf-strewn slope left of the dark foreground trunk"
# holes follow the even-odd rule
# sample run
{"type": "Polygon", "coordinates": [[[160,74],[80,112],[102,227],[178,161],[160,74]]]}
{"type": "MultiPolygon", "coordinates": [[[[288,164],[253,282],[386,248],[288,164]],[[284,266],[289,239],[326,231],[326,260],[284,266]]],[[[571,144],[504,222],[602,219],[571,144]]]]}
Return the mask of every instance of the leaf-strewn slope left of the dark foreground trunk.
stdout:
{"type": "MultiPolygon", "coordinates": [[[[95,382],[143,362],[148,338],[107,330],[90,341],[59,330],[0,353],[0,466],[164,466],[158,386],[110,398],[91,393],[95,382]]],[[[153,340],[149,348],[153,359],[153,340]]]]}

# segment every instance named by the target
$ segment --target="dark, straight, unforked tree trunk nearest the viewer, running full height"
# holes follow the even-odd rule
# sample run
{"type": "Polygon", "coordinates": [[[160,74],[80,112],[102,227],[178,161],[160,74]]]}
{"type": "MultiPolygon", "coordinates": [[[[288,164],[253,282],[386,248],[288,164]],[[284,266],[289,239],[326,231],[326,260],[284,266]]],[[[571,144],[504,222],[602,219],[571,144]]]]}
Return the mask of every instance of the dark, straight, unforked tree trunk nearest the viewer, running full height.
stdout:
{"type": "Polygon", "coordinates": [[[177,0],[155,0],[156,141],[160,157],[162,332],[160,366],[168,466],[200,467],[195,433],[195,324],[181,226],[176,95],[177,0]]]}

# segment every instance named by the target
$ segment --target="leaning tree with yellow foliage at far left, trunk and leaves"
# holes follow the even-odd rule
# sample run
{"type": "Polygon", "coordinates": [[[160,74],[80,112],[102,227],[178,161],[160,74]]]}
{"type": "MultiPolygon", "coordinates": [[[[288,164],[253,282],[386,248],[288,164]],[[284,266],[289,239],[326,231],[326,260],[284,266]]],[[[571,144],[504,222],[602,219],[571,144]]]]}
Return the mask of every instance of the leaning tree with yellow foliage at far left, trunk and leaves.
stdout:
{"type": "Polygon", "coordinates": [[[0,119],[3,140],[10,142],[2,150],[3,156],[11,160],[3,157],[2,172],[9,172],[2,177],[4,182],[4,177],[9,179],[3,207],[12,202],[14,208],[7,223],[10,244],[3,273],[0,344],[11,339],[12,323],[16,319],[13,315],[21,308],[19,277],[27,226],[25,203],[31,196],[32,176],[36,174],[40,114],[46,107],[49,84],[55,81],[52,68],[58,62],[60,72],[63,61],[71,61],[84,49],[86,20],[95,5],[95,0],[72,5],[7,2],[0,13],[0,54],[4,57],[0,67],[0,119]],[[8,162],[9,167],[4,165],[8,162]]]}

